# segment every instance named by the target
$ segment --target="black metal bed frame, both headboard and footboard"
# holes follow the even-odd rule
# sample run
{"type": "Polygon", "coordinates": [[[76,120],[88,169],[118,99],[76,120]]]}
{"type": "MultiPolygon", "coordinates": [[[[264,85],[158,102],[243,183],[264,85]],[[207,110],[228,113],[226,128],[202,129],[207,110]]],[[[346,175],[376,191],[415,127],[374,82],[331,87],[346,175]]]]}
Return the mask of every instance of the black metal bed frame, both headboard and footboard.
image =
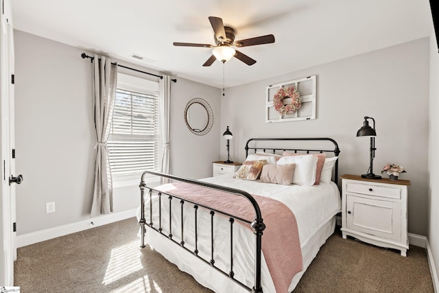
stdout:
{"type": "MultiPolygon", "coordinates": [[[[333,139],[330,138],[256,138],[256,139],[249,139],[246,143],[246,157],[248,156],[248,150],[254,150],[254,152],[256,153],[257,150],[263,150],[263,152],[265,152],[266,150],[270,150],[272,151],[272,153],[276,153],[276,151],[294,151],[295,153],[300,153],[300,152],[305,152],[306,154],[309,154],[310,152],[330,152],[333,153],[335,156],[338,156],[340,154],[340,149],[338,148],[337,142],[335,142],[333,139]],[[324,150],[324,149],[298,149],[298,148],[261,148],[259,146],[254,146],[254,147],[249,147],[250,143],[254,143],[256,141],[330,141],[331,143],[333,143],[333,145],[335,146],[335,148],[333,150],[324,150]]],[[[338,178],[338,160],[335,162],[335,166],[334,166],[334,176],[333,176],[333,180],[335,181],[335,183],[337,184],[337,179],[338,178]]],[[[337,184],[338,185],[338,184],[337,184]]],[[[159,233],[160,235],[163,235],[163,237],[167,237],[171,242],[174,242],[175,244],[177,244],[178,246],[180,246],[181,248],[189,251],[190,253],[192,253],[195,257],[198,257],[198,259],[201,259],[202,261],[204,261],[205,263],[208,263],[212,268],[215,268],[215,270],[221,272],[222,274],[224,274],[225,276],[227,276],[230,280],[234,281],[235,283],[238,283],[239,285],[241,285],[241,287],[243,287],[244,289],[248,290],[248,292],[262,292],[262,287],[261,287],[261,250],[262,250],[262,235],[263,235],[263,230],[265,229],[265,224],[263,223],[263,218],[261,215],[261,209],[259,208],[259,205],[257,204],[256,200],[254,200],[254,198],[248,194],[246,191],[243,190],[239,190],[239,189],[234,189],[234,188],[230,188],[230,187],[223,187],[220,185],[213,185],[210,183],[204,183],[202,181],[198,181],[198,180],[191,180],[188,178],[182,178],[179,176],[173,176],[173,175],[169,175],[169,174],[163,174],[163,173],[159,173],[159,172],[152,172],[152,171],[145,171],[143,172],[142,176],[141,176],[141,183],[139,185],[140,189],[141,189],[141,216],[140,216],[140,220],[139,220],[139,224],[141,226],[141,248],[145,247],[145,232],[146,232],[146,227],[145,226],[149,226],[150,228],[152,228],[154,231],[156,231],[157,233],[159,233]],[[250,204],[252,204],[253,210],[254,210],[254,219],[252,222],[239,218],[235,215],[230,215],[229,213],[226,213],[224,211],[219,211],[217,209],[213,209],[212,207],[206,207],[203,204],[199,204],[197,202],[192,202],[191,200],[185,200],[183,198],[179,198],[178,196],[175,195],[171,195],[171,194],[167,194],[163,191],[158,191],[157,189],[154,189],[152,187],[147,187],[147,185],[145,184],[145,175],[150,174],[150,175],[155,175],[155,176],[161,176],[164,178],[169,178],[171,180],[176,180],[176,181],[180,181],[180,182],[184,182],[184,183],[191,183],[194,185],[200,185],[202,187],[208,187],[211,189],[216,189],[219,191],[225,191],[228,192],[230,194],[235,194],[236,196],[241,196],[246,198],[250,204]],[[148,194],[150,195],[150,222],[147,223],[147,220],[145,219],[145,189],[148,189],[148,194]],[[156,192],[158,194],[158,206],[159,206],[159,222],[158,222],[158,226],[157,223],[153,223],[152,222],[152,193],[156,192]],[[163,226],[161,223],[161,219],[162,219],[162,214],[161,214],[161,210],[162,210],[162,196],[165,195],[167,198],[165,198],[165,200],[168,200],[168,204],[169,204],[169,235],[165,235],[165,233],[163,233],[163,226]],[[171,217],[171,211],[172,211],[172,202],[174,200],[174,198],[176,200],[178,200],[178,203],[180,203],[180,209],[181,209],[181,238],[180,242],[176,241],[176,239],[173,239],[173,235],[172,235],[172,217],[171,217]],[[195,250],[190,250],[189,248],[185,247],[185,241],[184,241],[184,230],[185,227],[183,226],[183,205],[184,204],[193,204],[193,212],[195,213],[195,250]],[[200,257],[200,255],[198,255],[198,231],[197,231],[197,213],[198,213],[198,207],[204,207],[205,209],[208,209],[210,211],[211,214],[211,259],[204,259],[203,257],[200,257]],[[213,239],[214,239],[214,233],[213,233],[213,218],[215,213],[219,213],[222,215],[225,215],[229,218],[229,222],[230,222],[230,271],[229,272],[225,272],[224,270],[221,270],[220,268],[218,268],[217,266],[215,266],[215,259],[213,257],[213,239]],[[254,286],[252,288],[249,288],[247,285],[245,285],[244,283],[241,283],[239,280],[234,278],[234,272],[233,272],[233,224],[235,222],[235,220],[241,220],[242,222],[248,224],[251,226],[252,231],[254,233],[254,286]]],[[[178,207],[177,207],[178,209],[178,207]]]]}

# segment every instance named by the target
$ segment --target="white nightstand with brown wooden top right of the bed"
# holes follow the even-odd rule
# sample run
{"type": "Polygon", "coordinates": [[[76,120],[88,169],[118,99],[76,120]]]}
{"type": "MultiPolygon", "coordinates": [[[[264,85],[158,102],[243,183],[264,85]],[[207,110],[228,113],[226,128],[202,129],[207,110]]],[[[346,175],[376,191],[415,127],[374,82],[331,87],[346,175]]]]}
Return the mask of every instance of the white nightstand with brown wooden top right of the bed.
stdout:
{"type": "Polygon", "coordinates": [[[401,250],[407,255],[407,186],[409,180],[342,177],[342,235],[401,250]]]}

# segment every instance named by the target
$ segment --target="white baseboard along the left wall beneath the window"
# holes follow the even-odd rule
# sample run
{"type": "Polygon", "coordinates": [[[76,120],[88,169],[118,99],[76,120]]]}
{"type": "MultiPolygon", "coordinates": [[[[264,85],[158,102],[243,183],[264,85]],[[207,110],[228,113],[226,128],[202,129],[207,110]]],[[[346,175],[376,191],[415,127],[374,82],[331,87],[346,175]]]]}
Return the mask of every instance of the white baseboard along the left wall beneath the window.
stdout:
{"type": "Polygon", "coordinates": [[[54,228],[48,228],[41,231],[18,235],[16,237],[16,247],[19,248],[30,244],[42,242],[45,240],[53,239],[56,237],[64,236],[67,234],[84,231],[97,226],[110,224],[112,222],[125,220],[128,218],[135,217],[136,213],[137,213],[137,209],[130,209],[128,211],[121,211],[119,213],[110,213],[108,215],[99,215],[95,218],[82,220],[80,222],[75,222],[62,226],[56,226],[54,228]]]}

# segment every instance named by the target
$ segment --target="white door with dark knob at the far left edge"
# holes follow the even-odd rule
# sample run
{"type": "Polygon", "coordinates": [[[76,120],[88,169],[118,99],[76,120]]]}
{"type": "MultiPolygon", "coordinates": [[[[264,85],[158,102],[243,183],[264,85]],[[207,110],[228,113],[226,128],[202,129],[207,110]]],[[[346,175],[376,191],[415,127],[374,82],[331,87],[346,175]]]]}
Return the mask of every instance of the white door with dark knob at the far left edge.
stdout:
{"type": "Polygon", "coordinates": [[[15,185],[22,177],[15,176],[14,163],[14,39],[10,0],[1,0],[0,16],[0,131],[1,131],[1,191],[0,191],[0,285],[14,285],[15,248],[15,185]]]}

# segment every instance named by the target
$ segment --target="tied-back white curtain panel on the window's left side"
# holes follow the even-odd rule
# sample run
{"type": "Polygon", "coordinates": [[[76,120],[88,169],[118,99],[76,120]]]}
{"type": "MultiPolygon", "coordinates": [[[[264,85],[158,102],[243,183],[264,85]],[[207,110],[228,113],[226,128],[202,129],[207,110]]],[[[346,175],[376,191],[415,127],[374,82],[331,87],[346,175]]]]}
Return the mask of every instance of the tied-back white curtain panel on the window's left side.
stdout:
{"type": "Polygon", "coordinates": [[[95,186],[91,216],[112,212],[112,180],[108,161],[107,140],[115,107],[117,65],[110,58],[93,58],[93,95],[95,101],[95,186]]]}

